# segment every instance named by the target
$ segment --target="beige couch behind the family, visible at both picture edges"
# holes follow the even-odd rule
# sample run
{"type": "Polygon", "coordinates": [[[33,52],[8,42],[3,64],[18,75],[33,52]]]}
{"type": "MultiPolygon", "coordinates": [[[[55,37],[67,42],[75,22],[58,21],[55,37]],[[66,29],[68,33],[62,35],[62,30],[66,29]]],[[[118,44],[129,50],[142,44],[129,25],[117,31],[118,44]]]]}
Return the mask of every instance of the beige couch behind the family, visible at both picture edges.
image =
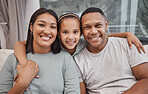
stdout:
{"type": "MultiPolygon", "coordinates": [[[[144,48],[146,50],[146,55],[148,56],[148,45],[144,45],[144,48]]],[[[13,50],[11,49],[0,49],[0,70],[8,55],[10,55],[11,53],[13,53],[13,50]]]]}

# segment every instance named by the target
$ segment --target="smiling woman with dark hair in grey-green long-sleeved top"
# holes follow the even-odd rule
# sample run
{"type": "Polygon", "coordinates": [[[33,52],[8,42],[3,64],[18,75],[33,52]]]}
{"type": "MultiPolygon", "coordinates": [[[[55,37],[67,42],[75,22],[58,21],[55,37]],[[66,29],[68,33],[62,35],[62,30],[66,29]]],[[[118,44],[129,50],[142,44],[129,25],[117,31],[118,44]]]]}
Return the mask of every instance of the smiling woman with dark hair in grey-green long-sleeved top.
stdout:
{"type": "Polygon", "coordinates": [[[52,10],[38,9],[31,17],[26,43],[28,61],[18,65],[14,54],[0,72],[0,93],[8,94],[79,94],[79,81],[73,58],[60,52],[57,38],[57,15],[52,10]],[[17,67],[17,68],[16,68],[17,67]],[[18,78],[13,79],[18,72],[18,78]],[[38,75],[39,78],[34,78],[38,75]],[[14,84],[14,85],[13,85],[14,84]],[[28,90],[25,89],[28,87],[28,90]]]}

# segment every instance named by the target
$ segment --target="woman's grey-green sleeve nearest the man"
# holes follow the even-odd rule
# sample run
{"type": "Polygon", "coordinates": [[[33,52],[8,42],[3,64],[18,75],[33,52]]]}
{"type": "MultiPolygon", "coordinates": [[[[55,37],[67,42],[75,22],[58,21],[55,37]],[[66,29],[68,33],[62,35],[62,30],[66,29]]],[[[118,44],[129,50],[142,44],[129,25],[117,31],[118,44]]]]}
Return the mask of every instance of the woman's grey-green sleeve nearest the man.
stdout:
{"type": "Polygon", "coordinates": [[[67,57],[64,71],[64,94],[80,94],[76,64],[71,56],[67,57]]]}

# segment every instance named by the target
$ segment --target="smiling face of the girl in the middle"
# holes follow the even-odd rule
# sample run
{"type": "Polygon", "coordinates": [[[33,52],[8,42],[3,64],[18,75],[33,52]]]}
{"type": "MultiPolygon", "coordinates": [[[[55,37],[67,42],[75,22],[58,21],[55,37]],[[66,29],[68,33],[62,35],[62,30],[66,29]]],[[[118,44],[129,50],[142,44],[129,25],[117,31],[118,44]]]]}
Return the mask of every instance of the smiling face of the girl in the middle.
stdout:
{"type": "Polygon", "coordinates": [[[63,48],[72,50],[76,48],[76,45],[80,39],[80,22],[77,18],[65,18],[60,23],[59,36],[63,48]]]}

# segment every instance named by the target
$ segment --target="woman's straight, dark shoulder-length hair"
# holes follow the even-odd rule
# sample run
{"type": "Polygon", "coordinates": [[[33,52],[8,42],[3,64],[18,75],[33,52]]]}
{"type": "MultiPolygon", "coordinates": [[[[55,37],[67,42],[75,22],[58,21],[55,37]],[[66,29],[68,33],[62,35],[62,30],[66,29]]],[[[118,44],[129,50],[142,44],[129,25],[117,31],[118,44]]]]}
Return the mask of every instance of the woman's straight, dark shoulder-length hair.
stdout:
{"type": "MultiPolygon", "coordinates": [[[[58,16],[57,14],[51,10],[51,9],[46,9],[46,8],[40,8],[38,10],[36,10],[33,15],[31,16],[30,22],[29,22],[29,27],[28,27],[28,36],[27,36],[27,43],[26,43],[26,53],[32,52],[34,53],[33,50],[33,34],[31,34],[31,30],[30,30],[30,25],[34,25],[37,17],[39,15],[42,15],[44,13],[49,13],[50,15],[54,16],[56,19],[56,22],[58,22],[58,16]]],[[[58,36],[56,36],[55,41],[51,44],[51,51],[53,53],[59,53],[61,50],[60,48],[60,43],[59,43],[59,39],[58,36]]]]}

